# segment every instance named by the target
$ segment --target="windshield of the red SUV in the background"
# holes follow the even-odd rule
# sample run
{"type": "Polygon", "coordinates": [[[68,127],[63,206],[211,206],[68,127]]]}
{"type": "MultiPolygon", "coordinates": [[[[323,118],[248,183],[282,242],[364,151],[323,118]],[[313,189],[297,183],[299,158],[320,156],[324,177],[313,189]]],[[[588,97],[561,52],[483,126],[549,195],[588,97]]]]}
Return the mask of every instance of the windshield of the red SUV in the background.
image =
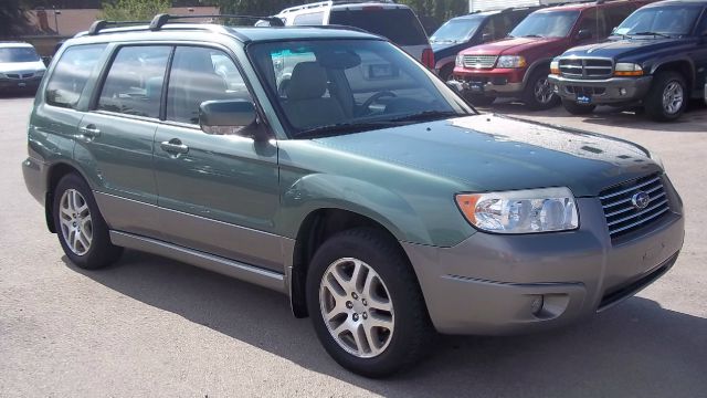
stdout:
{"type": "Polygon", "coordinates": [[[570,33],[579,11],[534,12],[510,32],[513,38],[564,38],[570,33]]]}

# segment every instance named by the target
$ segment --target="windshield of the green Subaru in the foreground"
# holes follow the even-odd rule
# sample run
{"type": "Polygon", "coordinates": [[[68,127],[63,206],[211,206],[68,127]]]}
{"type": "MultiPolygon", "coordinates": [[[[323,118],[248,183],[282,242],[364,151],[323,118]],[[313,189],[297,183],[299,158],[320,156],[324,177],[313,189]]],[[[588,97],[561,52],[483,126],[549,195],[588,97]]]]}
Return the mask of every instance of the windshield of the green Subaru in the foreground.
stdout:
{"type": "Polygon", "coordinates": [[[256,43],[247,53],[294,137],[357,133],[473,112],[442,81],[384,41],[256,43]]]}

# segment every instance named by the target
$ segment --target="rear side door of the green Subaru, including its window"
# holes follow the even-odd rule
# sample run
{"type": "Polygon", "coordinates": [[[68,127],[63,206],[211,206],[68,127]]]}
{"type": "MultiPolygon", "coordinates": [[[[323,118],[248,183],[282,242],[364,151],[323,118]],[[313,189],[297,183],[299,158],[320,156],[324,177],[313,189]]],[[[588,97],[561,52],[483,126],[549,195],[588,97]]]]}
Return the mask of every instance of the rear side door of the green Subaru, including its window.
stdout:
{"type": "Polygon", "coordinates": [[[159,234],[152,145],[171,51],[116,46],[78,128],[76,161],[96,174],[96,201],[114,230],[159,234]]]}

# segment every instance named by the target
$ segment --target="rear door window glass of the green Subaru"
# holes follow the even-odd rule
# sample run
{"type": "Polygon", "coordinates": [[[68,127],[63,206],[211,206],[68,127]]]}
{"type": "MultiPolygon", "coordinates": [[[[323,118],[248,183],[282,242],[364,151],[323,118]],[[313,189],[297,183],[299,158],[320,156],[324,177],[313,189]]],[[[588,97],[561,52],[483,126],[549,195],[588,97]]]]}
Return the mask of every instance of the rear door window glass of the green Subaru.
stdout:
{"type": "Polygon", "coordinates": [[[128,46],[119,50],[101,92],[98,109],[159,117],[170,46],[128,46]]]}

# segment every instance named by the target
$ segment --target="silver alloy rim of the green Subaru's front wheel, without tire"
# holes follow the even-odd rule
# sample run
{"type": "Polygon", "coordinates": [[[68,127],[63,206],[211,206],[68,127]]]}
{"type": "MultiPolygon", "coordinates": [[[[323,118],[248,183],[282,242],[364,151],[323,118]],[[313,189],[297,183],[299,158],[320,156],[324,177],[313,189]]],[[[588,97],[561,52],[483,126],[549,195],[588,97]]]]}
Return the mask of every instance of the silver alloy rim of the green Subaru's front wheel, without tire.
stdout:
{"type": "Polygon", "coordinates": [[[345,258],[331,263],[319,283],[327,329],[347,353],[372,358],[392,339],[395,316],[386,283],[367,263],[345,258]]]}

